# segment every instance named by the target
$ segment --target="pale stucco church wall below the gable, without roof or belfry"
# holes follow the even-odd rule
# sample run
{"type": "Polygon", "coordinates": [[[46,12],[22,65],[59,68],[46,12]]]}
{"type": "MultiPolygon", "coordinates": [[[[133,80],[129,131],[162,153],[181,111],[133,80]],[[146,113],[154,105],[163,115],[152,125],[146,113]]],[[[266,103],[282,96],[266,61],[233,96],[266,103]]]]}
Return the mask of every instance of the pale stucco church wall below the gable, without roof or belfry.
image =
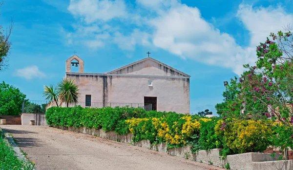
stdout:
{"type": "Polygon", "coordinates": [[[158,111],[190,113],[189,78],[101,76],[67,73],[79,86],[80,102],[144,103],[144,96],[157,97],[158,111]],[[148,81],[153,86],[148,86],[148,81]]]}

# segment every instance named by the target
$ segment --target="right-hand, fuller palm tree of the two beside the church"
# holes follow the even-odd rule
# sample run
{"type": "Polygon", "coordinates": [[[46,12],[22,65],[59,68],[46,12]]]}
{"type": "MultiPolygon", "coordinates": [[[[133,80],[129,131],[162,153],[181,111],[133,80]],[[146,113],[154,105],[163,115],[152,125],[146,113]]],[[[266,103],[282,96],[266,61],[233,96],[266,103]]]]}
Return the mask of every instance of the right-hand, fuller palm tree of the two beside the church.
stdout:
{"type": "Polygon", "coordinates": [[[64,78],[58,83],[59,99],[61,102],[66,102],[67,107],[69,103],[77,103],[80,95],[78,86],[72,79],[64,78]]]}

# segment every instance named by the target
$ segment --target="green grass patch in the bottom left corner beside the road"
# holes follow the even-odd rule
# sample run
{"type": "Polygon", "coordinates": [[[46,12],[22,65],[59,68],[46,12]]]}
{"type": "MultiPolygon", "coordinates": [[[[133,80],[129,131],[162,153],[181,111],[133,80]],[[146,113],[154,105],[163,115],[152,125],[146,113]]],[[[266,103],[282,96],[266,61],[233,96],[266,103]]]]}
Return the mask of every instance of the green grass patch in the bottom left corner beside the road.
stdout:
{"type": "Polygon", "coordinates": [[[20,159],[0,129],[0,170],[34,170],[34,163],[20,159]]]}

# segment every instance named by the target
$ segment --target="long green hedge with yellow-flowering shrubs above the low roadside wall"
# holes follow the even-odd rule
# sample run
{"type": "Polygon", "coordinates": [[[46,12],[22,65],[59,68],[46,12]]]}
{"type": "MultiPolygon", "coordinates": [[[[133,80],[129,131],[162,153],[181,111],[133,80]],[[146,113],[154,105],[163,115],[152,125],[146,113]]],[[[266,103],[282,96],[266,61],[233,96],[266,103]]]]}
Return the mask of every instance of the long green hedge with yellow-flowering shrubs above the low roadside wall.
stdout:
{"type": "Polygon", "coordinates": [[[263,152],[272,146],[271,120],[203,118],[139,108],[49,108],[48,125],[86,127],[133,134],[133,142],[167,143],[167,149],[191,146],[193,153],[220,148],[220,154],[263,152]]]}

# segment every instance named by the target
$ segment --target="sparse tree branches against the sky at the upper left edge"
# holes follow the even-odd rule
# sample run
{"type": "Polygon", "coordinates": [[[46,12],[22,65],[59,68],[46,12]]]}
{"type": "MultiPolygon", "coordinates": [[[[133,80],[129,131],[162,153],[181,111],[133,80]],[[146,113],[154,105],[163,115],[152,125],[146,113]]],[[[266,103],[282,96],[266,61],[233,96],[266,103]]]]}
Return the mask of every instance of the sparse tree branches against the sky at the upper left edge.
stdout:
{"type": "MultiPolygon", "coordinates": [[[[0,7],[3,3],[0,3],[0,7]]],[[[13,28],[13,21],[11,22],[10,27],[6,30],[6,34],[4,34],[4,30],[0,25],[0,70],[3,70],[8,66],[8,54],[11,47],[11,42],[9,41],[9,37],[11,35],[13,28]]]]}

